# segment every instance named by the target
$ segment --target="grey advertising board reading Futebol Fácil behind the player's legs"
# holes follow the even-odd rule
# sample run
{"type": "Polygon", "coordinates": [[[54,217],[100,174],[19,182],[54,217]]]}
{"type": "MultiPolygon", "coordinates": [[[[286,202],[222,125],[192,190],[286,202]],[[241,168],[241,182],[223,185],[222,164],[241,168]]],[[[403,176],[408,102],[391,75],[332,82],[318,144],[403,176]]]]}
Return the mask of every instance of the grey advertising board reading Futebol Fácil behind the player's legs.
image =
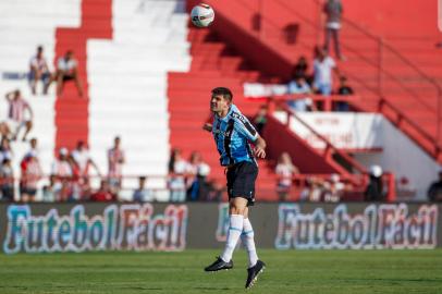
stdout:
{"type": "MultiPolygon", "coordinates": [[[[437,204],[258,204],[259,248],[431,249],[437,204]]],[[[222,248],[228,204],[0,204],[4,254],[222,248]]]]}

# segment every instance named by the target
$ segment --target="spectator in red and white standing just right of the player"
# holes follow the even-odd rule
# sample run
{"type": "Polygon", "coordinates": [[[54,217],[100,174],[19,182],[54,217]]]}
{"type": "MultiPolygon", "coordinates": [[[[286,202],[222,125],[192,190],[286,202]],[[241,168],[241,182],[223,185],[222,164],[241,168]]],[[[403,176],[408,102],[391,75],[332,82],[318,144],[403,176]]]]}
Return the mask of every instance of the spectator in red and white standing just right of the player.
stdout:
{"type": "Polygon", "coordinates": [[[290,191],[292,188],[293,175],[298,174],[299,170],[292,163],[292,158],[287,152],[281,154],[278,159],[275,169],[278,175],[277,192],[280,197],[280,201],[285,201],[288,198],[290,191]]]}

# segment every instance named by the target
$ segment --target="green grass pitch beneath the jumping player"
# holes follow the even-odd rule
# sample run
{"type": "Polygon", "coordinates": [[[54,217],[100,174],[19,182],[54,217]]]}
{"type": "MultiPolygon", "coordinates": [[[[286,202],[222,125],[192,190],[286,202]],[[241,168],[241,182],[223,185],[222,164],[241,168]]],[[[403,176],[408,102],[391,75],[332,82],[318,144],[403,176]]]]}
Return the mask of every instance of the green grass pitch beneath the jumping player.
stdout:
{"type": "MultiPolygon", "coordinates": [[[[217,250],[0,255],[0,293],[242,293],[246,255],[217,250]]],[[[442,293],[442,250],[260,250],[253,293],[442,293]]]]}

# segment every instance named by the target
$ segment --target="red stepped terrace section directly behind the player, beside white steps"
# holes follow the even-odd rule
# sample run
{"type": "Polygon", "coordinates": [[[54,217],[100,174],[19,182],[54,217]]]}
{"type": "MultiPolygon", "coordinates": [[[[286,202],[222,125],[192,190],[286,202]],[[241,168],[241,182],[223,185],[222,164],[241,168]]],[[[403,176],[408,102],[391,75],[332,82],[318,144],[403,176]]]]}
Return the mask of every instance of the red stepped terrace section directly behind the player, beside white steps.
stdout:
{"type": "MultiPolygon", "coordinates": [[[[243,97],[243,83],[266,81],[259,71],[253,69],[225,42],[209,29],[192,27],[188,34],[192,44],[192,64],[188,73],[169,73],[169,112],[171,147],[180,148],[188,158],[192,151],[199,151],[211,167],[210,177],[225,183],[224,169],[219,164],[219,154],[211,134],[202,131],[202,124],[211,120],[209,111],[210,91],[214,87],[229,87],[234,95],[233,102],[243,114],[251,118],[259,105],[249,103],[243,97]]],[[[275,175],[272,162],[259,161],[257,181],[259,199],[277,199],[275,175]]]]}

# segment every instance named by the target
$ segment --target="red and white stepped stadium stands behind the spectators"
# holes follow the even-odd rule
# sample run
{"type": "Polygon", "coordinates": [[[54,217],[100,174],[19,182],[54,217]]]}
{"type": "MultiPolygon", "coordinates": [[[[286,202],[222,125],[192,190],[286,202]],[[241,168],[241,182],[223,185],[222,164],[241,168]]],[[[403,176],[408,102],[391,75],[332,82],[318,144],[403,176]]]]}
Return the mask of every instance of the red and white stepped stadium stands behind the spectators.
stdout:
{"type": "MultiPolygon", "coordinates": [[[[195,28],[188,22],[186,12],[197,2],[0,2],[0,95],[20,88],[30,103],[34,110],[30,137],[39,140],[39,159],[46,175],[57,150],[72,149],[79,139],[89,145],[91,158],[106,172],[107,150],[119,135],[126,154],[125,188],[135,188],[136,177],[147,175],[147,186],[162,191],[157,199],[168,200],[168,161],[172,148],[181,149],[184,158],[199,151],[211,167],[210,177],[224,183],[212,137],[201,131],[211,115],[210,89],[230,87],[234,102],[253,118],[261,102],[246,99],[244,83],[285,83],[302,56],[311,64],[314,48],[323,39],[322,2],[256,0],[221,4],[207,0],[216,10],[216,22],[208,29],[195,28]],[[49,95],[32,95],[26,74],[38,45],[45,48],[50,70],[54,70],[59,57],[74,51],[83,97],[78,97],[72,83],[62,95],[56,94],[54,86],[49,95]]],[[[412,0],[400,8],[394,1],[376,0],[363,7],[347,2],[341,36],[345,61],[340,61],[339,66],[360,97],[351,102],[352,108],[382,113],[420,146],[435,167],[442,160],[440,33],[432,22],[417,14],[418,21],[413,25],[406,23],[404,15],[410,11],[412,0]],[[379,5],[383,14],[377,14],[375,8],[379,5]],[[400,16],[389,19],[393,9],[400,16]],[[373,16],[356,22],[367,11],[372,11],[373,16]],[[406,29],[407,35],[400,34],[401,29],[406,29]]],[[[419,8],[430,13],[435,3],[420,3],[419,8]]],[[[4,99],[0,100],[0,109],[3,121],[4,99]]],[[[279,155],[290,148],[293,156],[303,152],[309,158],[297,160],[302,173],[324,177],[339,173],[356,183],[359,192],[363,189],[366,180],[353,177],[352,172],[364,174],[368,167],[354,158],[346,159],[347,154],[331,145],[334,156],[318,152],[274,117],[269,117],[269,122],[270,158],[260,161],[257,185],[261,199],[278,199],[274,166],[279,155]]],[[[19,177],[19,163],[28,143],[13,142],[12,148],[19,177]]],[[[121,199],[131,199],[131,193],[124,189],[121,199]]]]}

